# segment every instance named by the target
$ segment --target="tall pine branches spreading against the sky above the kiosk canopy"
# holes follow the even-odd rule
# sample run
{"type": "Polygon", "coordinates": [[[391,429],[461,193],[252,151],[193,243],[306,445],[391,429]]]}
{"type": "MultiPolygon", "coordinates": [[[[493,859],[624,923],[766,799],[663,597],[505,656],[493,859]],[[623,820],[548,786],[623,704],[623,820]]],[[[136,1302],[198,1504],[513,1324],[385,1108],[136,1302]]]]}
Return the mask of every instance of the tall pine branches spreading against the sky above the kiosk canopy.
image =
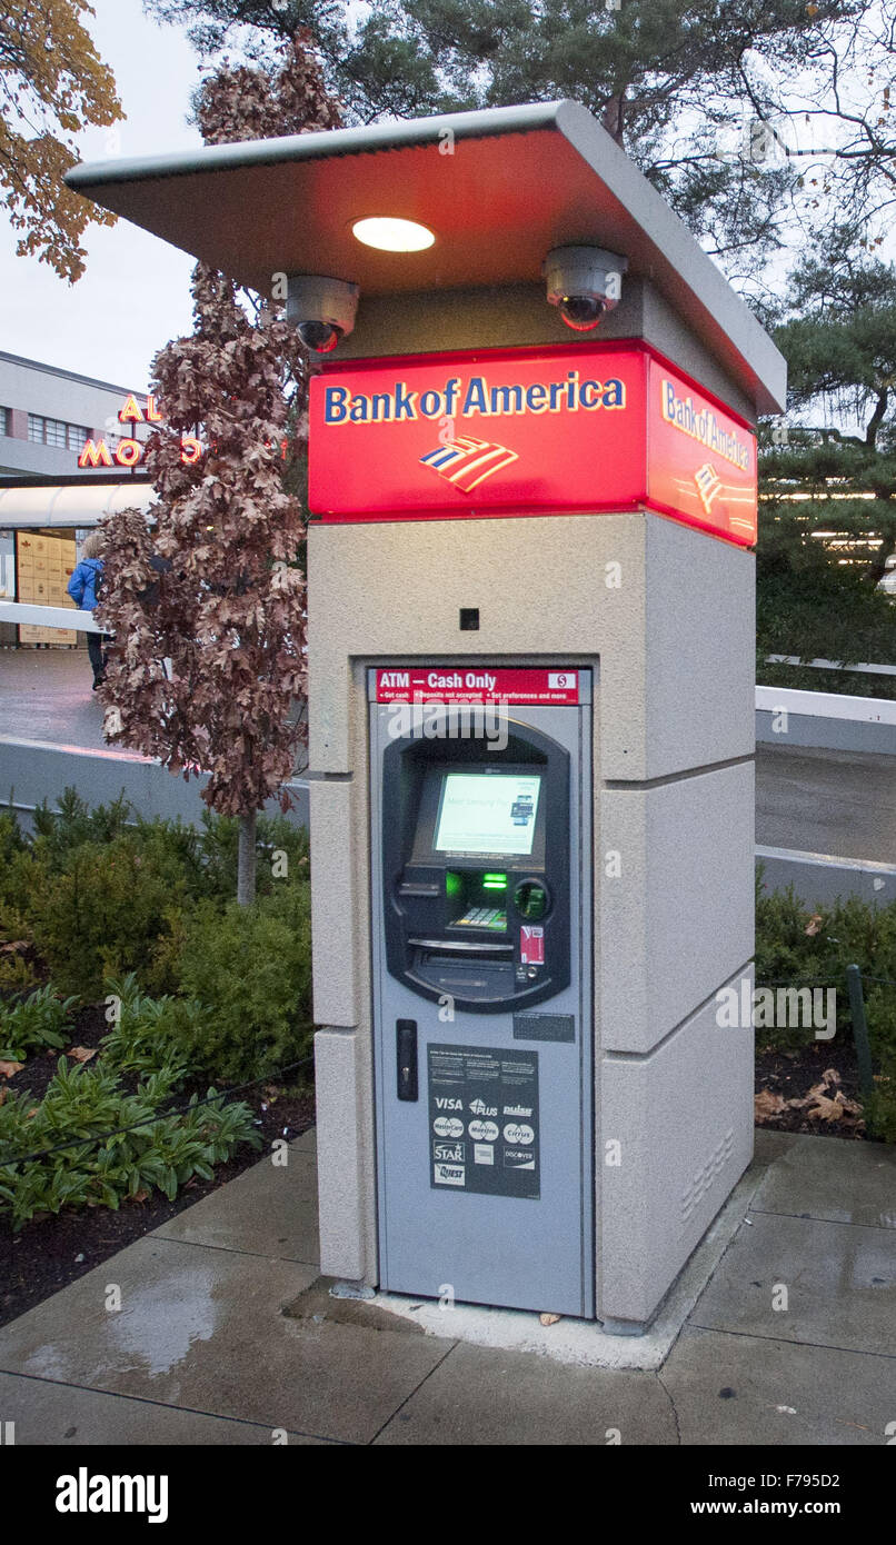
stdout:
{"type": "Polygon", "coordinates": [[[794,233],[893,204],[896,0],[145,5],[209,56],[311,28],[360,122],[575,97],[748,294],[794,233]]]}

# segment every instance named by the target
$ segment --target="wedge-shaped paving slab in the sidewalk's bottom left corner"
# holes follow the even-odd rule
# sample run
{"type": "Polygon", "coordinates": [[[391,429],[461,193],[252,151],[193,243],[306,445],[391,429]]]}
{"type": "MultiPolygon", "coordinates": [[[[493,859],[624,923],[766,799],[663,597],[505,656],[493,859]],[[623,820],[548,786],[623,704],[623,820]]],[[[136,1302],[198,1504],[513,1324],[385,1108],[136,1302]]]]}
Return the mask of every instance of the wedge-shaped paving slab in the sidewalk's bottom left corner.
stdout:
{"type": "MultiPolygon", "coordinates": [[[[272,1429],[255,1421],[227,1421],[199,1411],[179,1411],[127,1395],[102,1395],[94,1389],[49,1384],[40,1378],[0,1374],[0,1421],[14,1423],[17,1448],[124,1443],[209,1448],[227,1445],[270,1446],[272,1429]]],[[[289,1432],[295,1448],[329,1445],[328,1438],[289,1432]]]]}

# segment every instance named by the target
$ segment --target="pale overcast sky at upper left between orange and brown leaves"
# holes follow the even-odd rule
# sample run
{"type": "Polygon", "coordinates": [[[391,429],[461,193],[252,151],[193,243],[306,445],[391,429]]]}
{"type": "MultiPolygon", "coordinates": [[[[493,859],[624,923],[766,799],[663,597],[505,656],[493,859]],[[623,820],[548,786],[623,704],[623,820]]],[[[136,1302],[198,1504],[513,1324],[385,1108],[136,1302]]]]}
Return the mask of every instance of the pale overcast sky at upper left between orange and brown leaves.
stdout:
{"type": "MultiPolygon", "coordinates": [[[[93,6],[96,19],[85,22],[114,73],[127,119],[82,134],[82,159],[201,144],[185,121],[198,60],[184,34],[150,22],[141,0],[93,6]]],[[[193,263],[124,219],[111,230],[88,227],[85,246],[87,273],[66,284],[46,263],[15,256],[14,233],[0,215],[0,349],[145,391],[156,349],[192,331],[193,263]]]]}

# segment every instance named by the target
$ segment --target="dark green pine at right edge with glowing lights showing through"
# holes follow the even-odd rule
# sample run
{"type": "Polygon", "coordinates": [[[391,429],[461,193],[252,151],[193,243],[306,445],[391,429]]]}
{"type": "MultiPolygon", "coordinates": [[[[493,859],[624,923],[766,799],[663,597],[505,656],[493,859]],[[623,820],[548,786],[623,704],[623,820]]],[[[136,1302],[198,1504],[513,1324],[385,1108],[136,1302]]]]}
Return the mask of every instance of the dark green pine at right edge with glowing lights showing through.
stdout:
{"type": "Polygon", "coordinates": [[[840,229],[797,267],[785,311],[788,423],[765,430],[760,459],[760,655],[891,663],[896,607],[876,586],[896,552],[896,270],[840,229]]]}

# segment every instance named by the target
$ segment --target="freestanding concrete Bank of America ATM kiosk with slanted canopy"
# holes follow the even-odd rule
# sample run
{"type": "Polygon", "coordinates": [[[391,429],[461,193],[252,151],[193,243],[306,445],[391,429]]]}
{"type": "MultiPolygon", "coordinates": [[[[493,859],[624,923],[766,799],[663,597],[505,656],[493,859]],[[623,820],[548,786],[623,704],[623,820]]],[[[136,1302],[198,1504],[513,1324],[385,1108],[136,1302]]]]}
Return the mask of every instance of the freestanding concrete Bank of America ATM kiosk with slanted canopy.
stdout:
{"type": "MultiPolygon", "coordinates": [[[[261,290],[281,273],[332,275],[360,287],[357,326],[341,341],[340,363],[324,366],[312,402],[312,508],[323,514],[309,535],[323,1270],[428,1296],[450,1284],[462,1298],[465,1279],[490,1279],[501,1285],[485,1301],[638,1330],[752,1153],[749,1015],[742,1027],[720,1027],[717,992],[734,986],[740,995],[752,955],[749,456],[752,468],[755,460],[748,426],[757,413],[782,408],[783,360],[677,216],[576,104],[224,145],[83,167],[70,181],[261,290]],[[351,226],[366,215],[423,222],[436,241],[412,253],[361,247],[351,226]],[[572,334],[545,303],[541,264],[564,244],[627,260],[618,304],[596,334],[572,334]],[[581,371],[570,362],[576,349],[581,371]],[[627,416],[585,420],[589,408],[623,405],[609,379],[581,382],[584,366],[596,371],[601,362],[615,372],[612,389],[629,394],[627,416]],[[433,397],[442,413],[429,416],[429,428],[395,422],[425,416],[429,377],[422,371],[436,385],[450,375],[459,382],[454,399],[433,397]],[[494,397],[488,409],[485,399],[485,413],[456,426],[453,409],[463,417],[460,397],[476,371],[484,372],[476,380],[504,382],[507,411],[497,413],[494,397]],[[536,385],[507,385],[518,375],[536,385]],[[358,382],[382,386],[386,377],[400,377],[391,408],[351,419],[368,414],[358,382]],[[552,386],[542,377],[553,379],[556,396],[545,396],[552,386]],[[408,383],[417,382],[408,408],[408,383]],[[579,397],[565,399],[561,382],[579,397]],[[341,397],[340,383],[348,383],[341,397]],[[663,411],[660,391],[669,392],[663,411]],[[681,411],[691,417],[675,425],[677,391],[681,402],[689,394],[681,411]],[[701,411],[708,417],[698,422],[701,411]],[[341,439],[331,434],[340,414],[341,439]],[[664,462],[669,425],[675,456],[692,456],[686,473],[664,462]],[[725,443],[708,453],[706,425],[712,434],[725,426],[731,456],[725,443]],[[616,440],[638,426],[644,440],[632,465],[646,457],[653,470],[644,487],[618,497],[616,440]],[[412,474],[395,451],[399,434],[408,431],[411,443],[411,430],[412,474]],[[463,439],[491,433],[507,445],[463,439]],[[440,445],[457,457],[473,454],[470,447],[476,456],[502,453],[519,467],[504,493],[499,476],[482,484],[474,505],[434,476],[440,445]],[[536,447],[528,462],[539,462],[541,482],[525,482],[527,447],[536,447]],[[742,482],[731,473],[735,459],[742,482]],[[433,465],[420,471],[422,462],[433,465]],[[416,477],[431,477],[429,493],[416,477]],[[567,482],[575,484],[568,497],[567,482]],[[352,502],[361,484],[368,504],[352,502]],[[726,501],[728,527],[720,524],[726,501]],[[582,717],[587,754],[576,763],[581,840],[570,854],[585,1131],[578,1115],[564,1117],[564,1102],[544,1103],[541,1196],[473,1196],[465,1182],[450,1194],[433,1185],[425,1094],[412,1125],[402,1128],[403,1143],[416,1134],[411,1146],[388,1153],[388,1132],[397,1131],[383,1115],[394,1100],[394,1060],[385,1060],[392,1026],[377,1017],[399,1000],[385,995],[383,980],[394,973],[391,961],[383,966],[377,930],[391,905],[380,844],[399,816],[382,808],[375,726],[383,715],[371,703],[371,681],[392,669],[425,675],[426,667],[465,666],[548,678],[575,672],[592,692],[582,717]],[[552,1185],[568,1143],[578,1145],[573,1159],[585,1176],[575,1245],[582,1285],[575,1302],[558,1304],[542,1301],[545,1278],[527,1273],[524,1256],[527,1239],[542,1258],[567,1250],[568,1219],[552,1185]],[[392,1204],[405,1216],[391,1219],[405,1242],[419,1241],[412,1281],[389,1276],[383,1253],[386,1170],[395,1159],[420,1174],[419,1190],[392,1204]],[[474,1214],[479,1222],[468,1227],[474,1214]],[[471,1251],[491,1251],[490,1278],[467,1272],[471,1251]],[[514,1265],[502,1275],[505,1259],[514,1265]]],[[[513,722],[513,708],[508,715],[513,722]]],[[[531,711],[527,722],[536,720],[531,711]]],[[[514,963],[522,980],[519,956],[514,963]]],[[[459,1009],[445,1020],[436,992],[406,1001],[416,1003],[412,1020],[397,1023],[419,1026],[426,1046],[530,1044],[511,1027],[510,1010],[459,1009]]],[[[545,1007],[550,1014],[550,998],[545,1007]]],[[[535,1043],[542,1092],[559,1066],[550,1057],[562,1051],[535,1043]]],[[[414,1103],[408,1092],[403,1098],[414,1103]]]]}

